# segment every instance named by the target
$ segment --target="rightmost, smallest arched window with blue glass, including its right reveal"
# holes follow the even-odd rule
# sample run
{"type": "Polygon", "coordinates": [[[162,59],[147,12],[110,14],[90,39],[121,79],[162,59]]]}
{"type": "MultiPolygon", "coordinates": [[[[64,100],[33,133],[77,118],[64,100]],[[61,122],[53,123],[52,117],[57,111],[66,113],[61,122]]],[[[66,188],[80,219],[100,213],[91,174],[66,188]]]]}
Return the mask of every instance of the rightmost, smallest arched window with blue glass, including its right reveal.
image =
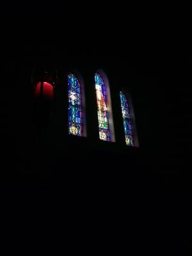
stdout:
{"type": "Polygon", "coordinates": [[[128,95],[128,97],[129,100],[127,100],[123,92],[120,92],[120,102],[125,132],[125,143],[128,146],[138,146],[131,96],[128,95]]]}

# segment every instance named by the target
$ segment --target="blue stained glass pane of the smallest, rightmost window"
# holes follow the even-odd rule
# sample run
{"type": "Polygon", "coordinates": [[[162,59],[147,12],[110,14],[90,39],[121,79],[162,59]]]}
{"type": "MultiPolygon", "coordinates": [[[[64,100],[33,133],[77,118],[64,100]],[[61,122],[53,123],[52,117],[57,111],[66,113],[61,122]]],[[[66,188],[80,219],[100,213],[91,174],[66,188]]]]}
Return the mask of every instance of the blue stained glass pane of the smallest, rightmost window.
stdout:
{"type": "Polygon", "coordinates": [[[129,102],[127,101],[123,92],[120,92],[120,102],[121,102],[122,117],[123,117],[123,123],[124,123],[125,143],[126,145],[134,146],[131,109],[129,106],[129,102]]]}

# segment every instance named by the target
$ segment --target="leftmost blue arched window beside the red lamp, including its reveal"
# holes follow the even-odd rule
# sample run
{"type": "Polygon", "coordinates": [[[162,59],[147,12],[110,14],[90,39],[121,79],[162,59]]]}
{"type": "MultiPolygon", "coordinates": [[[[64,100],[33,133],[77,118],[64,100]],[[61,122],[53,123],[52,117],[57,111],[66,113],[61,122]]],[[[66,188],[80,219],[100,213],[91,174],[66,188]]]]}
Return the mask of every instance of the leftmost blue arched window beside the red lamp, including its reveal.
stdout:
{"type": "MultiPolygon", "coordinates": [[[[83,81],[68,74],[68,133],[86,136],[83,81]]],[[[81,79],[82,80],[82,79],[81,79]]]]}

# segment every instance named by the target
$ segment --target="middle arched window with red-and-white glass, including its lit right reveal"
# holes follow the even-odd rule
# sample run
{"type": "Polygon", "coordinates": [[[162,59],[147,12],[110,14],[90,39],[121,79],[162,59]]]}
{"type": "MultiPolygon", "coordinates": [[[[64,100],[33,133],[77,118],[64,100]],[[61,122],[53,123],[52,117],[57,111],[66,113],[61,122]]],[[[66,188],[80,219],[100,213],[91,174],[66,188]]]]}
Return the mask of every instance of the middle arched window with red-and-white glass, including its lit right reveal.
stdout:
{"type": "Polygon", "coordinates": [[[101,70],[95,74],[95,90],[99,138],[104,141],[115,141],[109,83],[106,75],[101,70]]]}

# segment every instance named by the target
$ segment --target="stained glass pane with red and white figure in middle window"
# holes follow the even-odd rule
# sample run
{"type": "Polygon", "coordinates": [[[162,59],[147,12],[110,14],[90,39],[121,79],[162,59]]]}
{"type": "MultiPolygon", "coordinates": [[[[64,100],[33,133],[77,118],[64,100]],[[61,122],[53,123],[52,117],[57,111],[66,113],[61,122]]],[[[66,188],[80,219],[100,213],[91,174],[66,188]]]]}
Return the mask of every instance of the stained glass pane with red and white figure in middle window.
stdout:
{"type": "Polygon", "coordinates": [[[104,80],[98,73],[95,74],[95,90],[96,90],[96,97],[97,97],[99,138],[100,140],[111,141],[106,84],[104,83],[104,80]]]}

